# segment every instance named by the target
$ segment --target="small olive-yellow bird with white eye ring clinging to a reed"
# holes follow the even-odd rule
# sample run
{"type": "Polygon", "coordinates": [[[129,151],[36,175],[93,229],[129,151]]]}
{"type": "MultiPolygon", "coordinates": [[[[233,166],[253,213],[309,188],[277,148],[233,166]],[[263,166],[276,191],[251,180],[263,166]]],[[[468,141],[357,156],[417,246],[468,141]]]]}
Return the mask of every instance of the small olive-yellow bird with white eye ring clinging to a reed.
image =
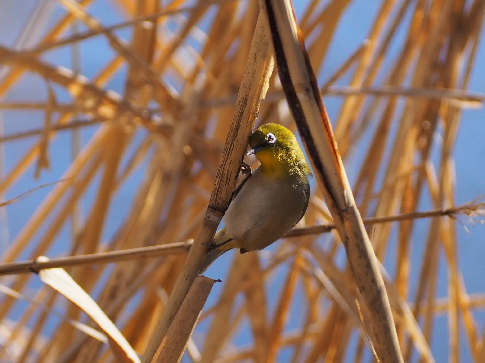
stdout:
{"type": "Polygon", "coordinates": [[[233,248],[241,253],[261,250],[283,237],[302,218],[312,176],[296,136],[278,123],[259,126],[249,138],[260,163],[244,182],[224,215],[225,227],[207,245],[199,273],[233,248]]]}

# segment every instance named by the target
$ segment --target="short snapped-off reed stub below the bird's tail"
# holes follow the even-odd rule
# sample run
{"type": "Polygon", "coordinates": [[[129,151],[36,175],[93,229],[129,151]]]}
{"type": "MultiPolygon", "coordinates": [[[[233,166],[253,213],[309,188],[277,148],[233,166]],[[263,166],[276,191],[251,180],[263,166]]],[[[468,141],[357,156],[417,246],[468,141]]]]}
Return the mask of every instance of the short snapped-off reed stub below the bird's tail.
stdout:
{"type": "Polygon", "coordinates": [[[205,276],[195,278],[151,363],[180,362],[210,290],[219,281],[221,280],[212,280],[205,276]]]}

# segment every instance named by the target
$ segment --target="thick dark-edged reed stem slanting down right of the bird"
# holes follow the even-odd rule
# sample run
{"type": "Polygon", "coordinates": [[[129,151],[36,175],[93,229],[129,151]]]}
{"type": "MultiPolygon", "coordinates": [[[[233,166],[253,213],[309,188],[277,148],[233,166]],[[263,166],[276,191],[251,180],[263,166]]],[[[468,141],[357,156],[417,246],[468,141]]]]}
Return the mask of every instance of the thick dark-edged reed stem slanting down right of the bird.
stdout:
{"type": "Polygon", "coordinates": [[[402,363],[384,280],[340,159],[293,6],[290,0],[260,0],[260,4],[268,18],[288,106],[369,311],[370,339],[381,362],[402,363]]]}

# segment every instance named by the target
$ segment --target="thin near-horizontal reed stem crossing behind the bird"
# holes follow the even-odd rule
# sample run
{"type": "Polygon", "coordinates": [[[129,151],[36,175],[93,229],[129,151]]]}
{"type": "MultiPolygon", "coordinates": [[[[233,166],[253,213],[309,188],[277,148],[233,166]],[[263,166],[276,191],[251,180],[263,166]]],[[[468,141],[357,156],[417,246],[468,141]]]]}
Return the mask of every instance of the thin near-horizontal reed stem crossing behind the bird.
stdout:
{"type": "MultiPolygon", "coordinates": [[[[57,181],[56,181],[57,182],[57,181]]],[[[449,216],[450,218],[456,218],[458,216],[478,216],[484,215],[483,208],[485,203],[466,203],[461,206],[456,206],[447,209],[435,209],[424,212],[411,212],[389,215],[385,217],[370,217],[364,218],[362,222],[365,225],[373,225],[378,223],[397,222],[406,219],[420,219],[439,216],[449,216]]],[[[305,227],[296,227],[291,229],[283,238],[292,238],[300,236],[308,236],[313,234],[327,233],[335,229],[333,223],[323,225],[313,225],[305,227]]],[[[129,248],[125,250],[98,252],[93,254],[68,256],[52,258],[49,261],[42,262],[37,260],[28,260],[21,262],[11,262],[0,264],[0,276],[1,275],[14,275],[19,273],[38,272],[45,269],[53,269],[57,267],[71,267],[85,264],[98,264],[98,263],[111,263],[119,261],[130,261],[139,258],[154,258],[168,255],[183,254],[190,250],[193,240],[186,242],[176,242],[160,244],[156,246],[129,248]]]]}

